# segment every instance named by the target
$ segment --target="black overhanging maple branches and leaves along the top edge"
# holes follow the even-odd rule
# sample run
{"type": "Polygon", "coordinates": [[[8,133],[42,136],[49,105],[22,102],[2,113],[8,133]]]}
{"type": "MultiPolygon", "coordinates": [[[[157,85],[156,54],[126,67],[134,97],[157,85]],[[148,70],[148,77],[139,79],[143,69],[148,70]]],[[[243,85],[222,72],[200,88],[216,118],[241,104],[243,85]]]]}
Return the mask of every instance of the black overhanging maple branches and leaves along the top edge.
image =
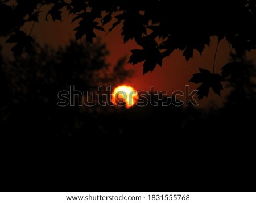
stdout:
{"type": "MultiPolygon", "coordinates": [[[[23,50],[31,53],[34,39],[30,33],[22,31],[22,26],[26,22],[38,22],[42,6],[48,9],[46,20],[61,20],[61,14],[67,10],[73,15],[72,22],[78,22],[76,40],[85,36],[89,43],[93,43],[96,30],[111,32],[120,24],[124,43],[135,40],[142,47],[131,50],[129,62],[144,62],[143,73],[154,70],[157,64],[161,66],[163,58],[176,49],[183,51],[186,60],[193,57],[195,50],[201,54],[205,45],[210,44],[212,36],[218,37],[218,41],[225,38],[237,52],[256,48],[255,0],[0,2],[0,35],[9,36],[7,43],[16,43],[12,48],[15,56],[20,56],[23,50]],[[105,30],[109,27],[106,24],[110,25],[110,29],[105,30]]],[[[199,88],[200,98],[208,95],[208,86],[213,87],[212,84],[221,81],[220,74],[214,75],[210,77],[213,81],[204,88],[204,92],[199,88]]],[[[219,94],[222,86],[218,84],[216,87],[214,92],[219,94]]]]}

